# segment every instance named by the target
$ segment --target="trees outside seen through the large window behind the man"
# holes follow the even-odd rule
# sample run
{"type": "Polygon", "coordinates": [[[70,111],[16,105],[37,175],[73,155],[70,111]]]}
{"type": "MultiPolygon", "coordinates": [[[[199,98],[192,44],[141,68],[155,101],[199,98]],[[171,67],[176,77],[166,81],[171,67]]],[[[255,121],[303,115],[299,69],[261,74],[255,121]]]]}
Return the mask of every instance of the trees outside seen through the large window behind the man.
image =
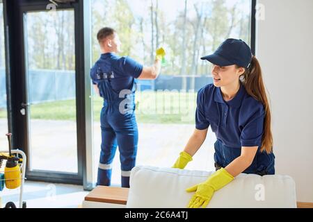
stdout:
{"type": "MultiPolygon", "coordinates": [[[[161,0],[141,2],[143,6],[134,5],[138,1],[93,0],[93,62],[99,58],[99,46],[95,36],[99,28],[111,26],[118,31],[122,41],[121,56],[131,56],[138,62],[151,65],[152,42],[153,50],[157,49],[157,36],[159,46],[166,49],[168,65],[163,67],[163,75],[178,75],[182,64],[186,65],[184,73],[191,75],[193,69],[193,55],[195,55],[195,74],[209,74],[209,64],[200,60],[201,56],[213,52],[227,37],[236,37],[250,42],[250,1],[238,0],[234,4],[226,0],[198,1],[187,0],[187,17],[184,23],[184,1],[175,1],[179,4],[172,8],[175,19],[168,19],[169,11],[164,8],[161,0]],[[110,7],[107,7],[110,6],[110,7]],[[142,7],[139,12],[131,8],[142,7]],[[99,10],[101,8],[101,10],[99,10]],[[195,16],[198,9],[201,19],[195,16]],[[247,10],[248,8],[248,10],[247,10]],[[154,19],[152,23],[151,13],[154,19]],[[157,19],[155,16],[157,15],[157,19]],[[200,33],[195,39],[196,26],[200,22],[200,33]],[[153,26],[153,32],[152,32],[153,26]],[[182,47],[183,33],[186,42],[182,47]],[[194,42],[195,48],[194,48],[194,42]],[[182,60],[183,51],[186,59],[182,60]]],[[[172,15],[170,15],[172,16],[172,15]]]]}

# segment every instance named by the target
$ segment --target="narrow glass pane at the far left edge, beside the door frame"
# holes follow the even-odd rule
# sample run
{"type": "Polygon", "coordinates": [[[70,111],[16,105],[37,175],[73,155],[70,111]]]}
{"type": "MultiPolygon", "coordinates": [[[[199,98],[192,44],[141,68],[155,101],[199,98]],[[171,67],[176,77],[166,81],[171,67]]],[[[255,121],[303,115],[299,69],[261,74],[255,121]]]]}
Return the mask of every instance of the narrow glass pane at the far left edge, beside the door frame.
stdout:
{"type": "Polygon", "coordinates": [[[3,3],[0,3],[0,150],[8,149],[8,113],[6,110],[6,62],[4,56],[3,3]]]}

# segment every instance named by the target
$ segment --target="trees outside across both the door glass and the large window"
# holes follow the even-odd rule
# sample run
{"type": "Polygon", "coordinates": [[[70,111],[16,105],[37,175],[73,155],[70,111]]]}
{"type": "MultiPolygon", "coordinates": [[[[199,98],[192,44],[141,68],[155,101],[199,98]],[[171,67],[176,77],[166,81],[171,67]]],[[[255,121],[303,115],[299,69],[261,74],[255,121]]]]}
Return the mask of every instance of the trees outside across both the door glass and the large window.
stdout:
{"type": "MultiPolygon", "coordinates": [[[[122,42],[120,56],[131,56],[145,65],[151,65],[155,49],[163,46],[168,60],[168,65],[163,67],[165,75],[178,75],[182,65],[186,75],[207,75],[208,63],[202,62],[200,56],[214,51],[227,37],[250,42],[250,13],[246,10],[250,9],[249,0],[235,3],[187,0],[186,18],[184,1],[172,1],[177,6],[170,10],[166,8],[166,1],[93,0],[93,63],[100,54],[97,31],[104,26],[111,26],[118,32],[122,42]],[[136,10],[138,8],[142,10],[136,10]],[[198,26],[200,32],[195,35],[198,26]],[[185,58],[182,57],[184,53],[185,58]],[[196,64],[193,64],[194,57],[196,64]],[[197,68],[195,72],[192,71],[194,66],[197,68]]],[[[56,15],[28,13],[27,27],[30,69],[74,70],[72,10],[57,11],[56,15]]]]}

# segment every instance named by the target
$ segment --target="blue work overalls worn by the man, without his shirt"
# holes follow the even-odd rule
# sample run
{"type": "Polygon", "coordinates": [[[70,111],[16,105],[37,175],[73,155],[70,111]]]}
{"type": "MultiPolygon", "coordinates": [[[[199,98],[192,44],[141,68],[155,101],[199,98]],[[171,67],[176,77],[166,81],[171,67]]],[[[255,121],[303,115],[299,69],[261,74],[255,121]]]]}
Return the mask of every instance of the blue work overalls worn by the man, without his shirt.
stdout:
{"type": "Polygon", "coordinates": [[[112,162],[118,146],[120,151],[122,187],[129,187],[131,169],[136,164],[138,128],[135,117],[135,80],[129,89],[115,92],[111,86],[114,73],[109,65],[97,65],[100,95],[104,98],[101,110],[102,144],[97,185],[111,185],[112,162]],[[106,70],[103,70],[103,69],[106,70]]]}

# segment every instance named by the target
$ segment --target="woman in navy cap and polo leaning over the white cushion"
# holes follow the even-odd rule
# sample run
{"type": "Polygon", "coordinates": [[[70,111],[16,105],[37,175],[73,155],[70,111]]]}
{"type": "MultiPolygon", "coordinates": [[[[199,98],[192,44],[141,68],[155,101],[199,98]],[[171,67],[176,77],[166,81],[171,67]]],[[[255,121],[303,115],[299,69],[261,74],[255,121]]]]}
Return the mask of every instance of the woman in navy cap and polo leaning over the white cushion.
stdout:
{"type": "Polygon", "coordinates": [[[242,40],[228,39],[212,55],[201,59],[212,63],[214,83],[198,92],[195,131],[173,167],[184,169],[211,126],[217,138],[216,172],[186,189],[195,191],[188,207],[207,207],[214,191],[239,173],[275,173],[271,112],[261,67],[250,47],[242,40]]]}

